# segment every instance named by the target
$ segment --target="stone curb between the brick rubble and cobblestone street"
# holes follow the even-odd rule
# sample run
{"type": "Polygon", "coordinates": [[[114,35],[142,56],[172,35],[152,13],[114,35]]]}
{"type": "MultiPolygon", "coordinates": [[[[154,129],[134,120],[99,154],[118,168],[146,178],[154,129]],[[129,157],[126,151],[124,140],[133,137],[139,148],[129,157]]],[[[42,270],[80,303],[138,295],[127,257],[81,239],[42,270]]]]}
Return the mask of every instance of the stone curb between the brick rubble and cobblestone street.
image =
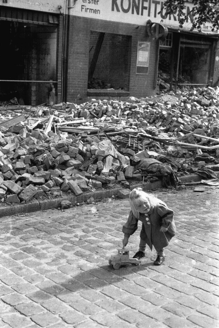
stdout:
{"type": "MultiPolygon", "coordinates": [[[[186,182],[197,182],[201,181],[202,177],[199,174],[191,174],[187,176],[182,176],[179,178],[181,184],[186,182]]],[[[142,187],[142,183],[132,185],[131,190],[137,187],[142,187]]],[[[143,185],[143,190],[156,190],[161,189],[162,181],[158,180],[155,182],[145,182],[143,185]]],[[[83,201],[87,201],[90,197],[93,197],[96,200],[100,200],[103,198],[109,198],[112,196],[118,195],[118,192],[124,188],[115,188],[115,189],[109,189],[105,191],[96,191],[93,193],[88,194],[82,194],[79,196],[64,196],[60,198],[55,199],[49,199],[44,201],[35,201],[32,203],[27,204],[19,204],[15,206],[6,206],[6,207],[0,207],[0,217],[3,216],[10,216],[15,215],[19,213],[30,213],[30,212],[36,212],[40,210],[49,210],[52,208],[59,208],[61,207],[61,202],[63,200],[69,200],[72,204],[82,203],[83,201]]]]}

